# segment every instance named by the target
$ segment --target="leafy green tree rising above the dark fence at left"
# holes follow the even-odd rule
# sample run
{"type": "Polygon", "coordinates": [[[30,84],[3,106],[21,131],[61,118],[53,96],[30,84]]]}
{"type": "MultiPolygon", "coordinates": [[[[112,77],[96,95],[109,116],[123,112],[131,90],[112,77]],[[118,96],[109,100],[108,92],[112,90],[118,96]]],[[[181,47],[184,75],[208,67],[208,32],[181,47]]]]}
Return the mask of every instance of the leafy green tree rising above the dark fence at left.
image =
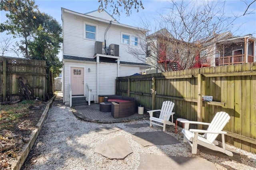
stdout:
{"type": "Polygon", "coordinates": [[[62,67],[57,56],[62,43],[60,24],[41,13],[34,0],[2,0],[0,10],[8,12],[8,20],[0,24],[0,32],[22,38],[16,46],[24,57],[46,61],[54,77],[58,76],[62,67]]]}

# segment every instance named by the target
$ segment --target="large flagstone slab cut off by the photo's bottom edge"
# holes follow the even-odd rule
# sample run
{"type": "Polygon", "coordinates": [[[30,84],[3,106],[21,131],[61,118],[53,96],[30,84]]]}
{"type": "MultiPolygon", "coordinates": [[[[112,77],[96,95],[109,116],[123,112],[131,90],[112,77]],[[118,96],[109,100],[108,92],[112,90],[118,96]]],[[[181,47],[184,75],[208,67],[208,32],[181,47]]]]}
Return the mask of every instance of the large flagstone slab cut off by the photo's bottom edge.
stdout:
{"type": "Polygon", "coordinates": [[[198,157],[140,154],[138,170],[217,170],[213,162],[198,157]]]}

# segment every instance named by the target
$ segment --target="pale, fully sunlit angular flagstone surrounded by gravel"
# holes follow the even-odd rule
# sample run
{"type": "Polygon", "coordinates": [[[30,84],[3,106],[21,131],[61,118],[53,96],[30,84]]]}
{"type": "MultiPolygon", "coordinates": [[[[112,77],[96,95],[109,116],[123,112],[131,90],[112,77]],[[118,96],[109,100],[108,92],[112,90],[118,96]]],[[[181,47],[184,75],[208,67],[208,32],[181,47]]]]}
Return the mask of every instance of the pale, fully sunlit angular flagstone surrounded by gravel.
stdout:
{"type": "Polygon", "coordinates": [[[102,154],[109,159],[124,159],[128,154],[132,153],[132,148],[126,138],[121,135],[112,138],[94,149],[95,153],[102,154]]]}

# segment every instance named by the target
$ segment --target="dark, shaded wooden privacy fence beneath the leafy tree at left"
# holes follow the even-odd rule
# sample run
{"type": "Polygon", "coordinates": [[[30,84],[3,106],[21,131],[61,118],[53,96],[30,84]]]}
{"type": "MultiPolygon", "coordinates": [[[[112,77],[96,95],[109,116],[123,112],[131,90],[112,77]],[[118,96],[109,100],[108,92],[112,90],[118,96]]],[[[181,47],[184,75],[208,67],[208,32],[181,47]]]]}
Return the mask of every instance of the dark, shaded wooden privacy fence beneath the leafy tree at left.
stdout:
{"type": "Polygon", "coordinates": [[[24,91],[19,86],[19,77],[28,80],[34,96],[47,101],[52,97],[52,74],[46,61],[28,60],[14,57],[0,57],[1,96],[2,101],[22,99],[24,91]]]}

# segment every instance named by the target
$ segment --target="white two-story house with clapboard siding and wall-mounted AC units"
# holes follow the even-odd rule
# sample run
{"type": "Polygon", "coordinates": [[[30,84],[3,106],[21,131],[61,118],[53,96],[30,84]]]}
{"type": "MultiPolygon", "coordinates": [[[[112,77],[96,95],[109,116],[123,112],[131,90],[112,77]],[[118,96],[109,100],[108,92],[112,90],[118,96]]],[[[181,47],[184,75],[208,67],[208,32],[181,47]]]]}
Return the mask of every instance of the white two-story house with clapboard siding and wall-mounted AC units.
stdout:
{"type": "Polygon", "coordinates": [[[115,79],[143,73],[146,64],[146,30],[117,22],[108,12],[86,14],[62,8],[63,102],[86,96],[114,95],[115,79]],[[129,49],[141,51],[134,56],[129,49]]]}

